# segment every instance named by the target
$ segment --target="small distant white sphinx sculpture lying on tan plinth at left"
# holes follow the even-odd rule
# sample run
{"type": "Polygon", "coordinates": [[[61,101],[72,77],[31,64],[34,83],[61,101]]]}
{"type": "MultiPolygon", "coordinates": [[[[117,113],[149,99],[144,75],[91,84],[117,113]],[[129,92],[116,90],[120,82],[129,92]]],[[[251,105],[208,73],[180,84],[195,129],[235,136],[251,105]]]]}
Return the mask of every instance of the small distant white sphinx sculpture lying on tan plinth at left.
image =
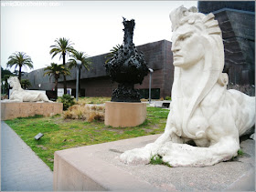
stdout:
{"type": "Polygon", "coordinates": [[[52,102],[48,96],[39,91],[27,91],[21,88],[19,80],[16,76],[11,76],[7,80],[8,84],[13,88],[10,99],[1,102],[52,102]]]}

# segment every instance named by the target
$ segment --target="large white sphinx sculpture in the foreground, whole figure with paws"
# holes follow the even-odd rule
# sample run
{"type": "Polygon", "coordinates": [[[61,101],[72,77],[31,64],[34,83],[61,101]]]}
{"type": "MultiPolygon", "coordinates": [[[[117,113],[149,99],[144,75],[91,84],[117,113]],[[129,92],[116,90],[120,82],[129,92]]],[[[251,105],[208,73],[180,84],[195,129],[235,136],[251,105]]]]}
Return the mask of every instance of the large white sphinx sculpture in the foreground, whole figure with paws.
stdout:
{"type": "Polygon", "coordinates": [[[181,6],[171,12],[175,77],[165,133],[125,151],[125,164],[158,155],[172,167],[205,167],[237,156],[240,136],[254,125],[255,97],[227,90],[224,47],[214,15],[181,6]],[[193,140],[197,147],[186,144],[193,140]]]}

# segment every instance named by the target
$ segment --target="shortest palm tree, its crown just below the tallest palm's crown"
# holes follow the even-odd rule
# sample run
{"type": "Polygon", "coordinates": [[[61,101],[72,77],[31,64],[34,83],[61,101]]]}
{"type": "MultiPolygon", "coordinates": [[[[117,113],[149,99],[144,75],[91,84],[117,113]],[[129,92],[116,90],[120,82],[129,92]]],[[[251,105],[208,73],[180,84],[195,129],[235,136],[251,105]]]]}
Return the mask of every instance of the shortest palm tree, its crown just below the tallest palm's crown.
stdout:
{"type": "Polygon", "coordinates": [[[69,73],[69,69],[66,68],[63,65],[58,65],[56,63],[51,63],[50,66],[47,66],[44,71],[47,71],[44,73],[44,76],[54,76],[55,79],[55,91],[56,91],[56,96],[58,96],[58,79],[60,77],[60,75],[63,76],[68,76],[69,73]]]}

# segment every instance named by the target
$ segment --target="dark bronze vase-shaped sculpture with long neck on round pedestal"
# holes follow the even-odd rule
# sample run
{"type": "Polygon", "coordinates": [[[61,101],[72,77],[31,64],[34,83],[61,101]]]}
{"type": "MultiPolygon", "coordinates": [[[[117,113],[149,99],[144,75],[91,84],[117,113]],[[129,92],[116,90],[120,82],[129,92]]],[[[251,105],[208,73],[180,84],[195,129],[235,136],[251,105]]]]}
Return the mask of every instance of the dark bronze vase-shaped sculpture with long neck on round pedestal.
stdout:
{"type": "Polygon", "coordinates": [[[139,53],[133,44],[134,20],[128,21],[123,18],[123,25],[123,45],[112,53],[104,65],[112,81],[119,84],[112,92],[112,101],[141,102],[139,91],[134,89],[134,84],[142,84],[149,70],[143,54],[139,53]]]}

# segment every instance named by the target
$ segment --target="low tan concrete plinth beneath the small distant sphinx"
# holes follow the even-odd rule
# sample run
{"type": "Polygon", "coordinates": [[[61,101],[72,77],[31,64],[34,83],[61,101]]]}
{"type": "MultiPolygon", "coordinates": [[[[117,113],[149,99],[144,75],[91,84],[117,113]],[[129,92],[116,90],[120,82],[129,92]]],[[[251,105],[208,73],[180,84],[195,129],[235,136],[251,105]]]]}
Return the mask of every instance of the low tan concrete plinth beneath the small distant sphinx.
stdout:
{"type": "Polygon", "coordinates": [[[62,103],[36,103],[36,102],[14,102],[1,103],[1,119],[7,120],[16,117],[27,117],[35,115],[54,116],[63,111],[62,103]]]}

